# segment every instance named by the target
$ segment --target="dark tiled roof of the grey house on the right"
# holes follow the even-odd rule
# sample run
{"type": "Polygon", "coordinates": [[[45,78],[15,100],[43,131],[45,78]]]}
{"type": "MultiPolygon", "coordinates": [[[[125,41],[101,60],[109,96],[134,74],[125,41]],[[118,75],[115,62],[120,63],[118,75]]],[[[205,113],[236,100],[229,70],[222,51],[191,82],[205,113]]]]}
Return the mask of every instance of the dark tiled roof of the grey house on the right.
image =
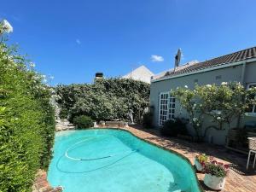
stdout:
{"type": "Polygon", "coordinates": [[[187,66],[185,65],[182,69],[172,70],[167,72],[164,76],[160,77],[159,79],[166,79],[168,77],[172,77],[180,74],[196,72],[196,71],[200,71],[201,69],[226,65],[232,62],[243,61],[251,58],[256,58],[256,47],[243,49],[235,53],[219,56],[217,58],[214,58],[208,61],[197,62],[187,66]]]}

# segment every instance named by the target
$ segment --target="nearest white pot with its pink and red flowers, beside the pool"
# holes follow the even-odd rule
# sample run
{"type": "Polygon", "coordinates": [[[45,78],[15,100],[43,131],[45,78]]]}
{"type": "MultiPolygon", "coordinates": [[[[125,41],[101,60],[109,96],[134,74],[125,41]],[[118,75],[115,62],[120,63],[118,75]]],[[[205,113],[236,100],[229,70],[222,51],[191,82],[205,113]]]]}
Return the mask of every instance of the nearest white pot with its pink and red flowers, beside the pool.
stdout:
{"type": "Polygon", "coordinates": [[[204,183],[207,187],[214,190],[224,189],[225,177],[229,170],[228,165],[213,160],[205,165],[204,171],[206,175],[204,177],[204,183]]]}

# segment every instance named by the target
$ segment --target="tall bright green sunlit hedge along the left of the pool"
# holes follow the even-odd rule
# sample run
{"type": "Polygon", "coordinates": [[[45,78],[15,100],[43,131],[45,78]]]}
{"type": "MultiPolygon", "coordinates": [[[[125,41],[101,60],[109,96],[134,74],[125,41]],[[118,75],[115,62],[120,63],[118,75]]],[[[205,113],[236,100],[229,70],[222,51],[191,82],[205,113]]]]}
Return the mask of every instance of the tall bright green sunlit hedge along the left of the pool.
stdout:
{"type": "Polygon", "coordinates": [[[51,158],[51,91],[42,83],[44,77],[3,42],[0,77],[0,191],[32,191],[35,173],[47,169],[51,158]]]}

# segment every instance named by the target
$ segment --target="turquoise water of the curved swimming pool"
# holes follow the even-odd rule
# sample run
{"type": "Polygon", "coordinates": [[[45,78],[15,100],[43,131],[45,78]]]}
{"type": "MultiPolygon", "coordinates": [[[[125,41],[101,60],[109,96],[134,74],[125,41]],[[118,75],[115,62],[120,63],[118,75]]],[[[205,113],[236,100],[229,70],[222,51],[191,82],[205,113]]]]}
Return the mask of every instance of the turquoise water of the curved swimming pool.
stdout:
{"type": "Polygon", "coordinates": [[[56,133],[48,180],[64,192],[197,192],[192,166],[128,131],[56,133]]]}

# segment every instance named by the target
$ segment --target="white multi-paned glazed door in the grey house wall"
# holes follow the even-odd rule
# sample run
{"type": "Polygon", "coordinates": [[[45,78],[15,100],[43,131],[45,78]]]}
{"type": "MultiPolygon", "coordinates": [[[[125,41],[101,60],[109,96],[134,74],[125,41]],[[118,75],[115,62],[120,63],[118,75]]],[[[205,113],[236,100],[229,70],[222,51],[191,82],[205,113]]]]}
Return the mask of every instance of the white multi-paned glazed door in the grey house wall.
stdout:
{"type": "Polygon", "coordinates": [[[171,92],[160,92],[158,125],[162,126],[166,122],[166,120],[175,118],[175,101],[176,99],[174,96],[171,95],[171,92]],[[164,98],[162,98],[161,96],[163,96],[164,98]],[[162,113],[161,110],[163,111],[162,113]],[[164,116],[165,118],[162,119],[161,116],[164,116]]]}

